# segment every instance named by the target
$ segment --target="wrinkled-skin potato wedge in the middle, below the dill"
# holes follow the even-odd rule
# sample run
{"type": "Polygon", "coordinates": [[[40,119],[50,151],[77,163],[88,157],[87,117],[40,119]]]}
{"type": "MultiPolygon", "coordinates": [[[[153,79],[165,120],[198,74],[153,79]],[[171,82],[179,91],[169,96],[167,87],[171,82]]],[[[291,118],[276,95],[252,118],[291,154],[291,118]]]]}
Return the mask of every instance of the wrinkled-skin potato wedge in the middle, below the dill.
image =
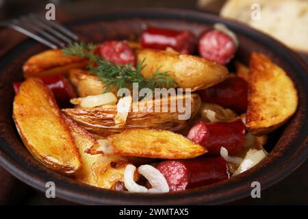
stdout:
{"type": "MultiPolygon", "coordinates": [[[[166,129],[170,131],[179,131],[187,125],[187,120],[179,120],[179,110],[172,111],[170,105],[176,101],[183,100],[185,107],[185,96],[172,96],[160,101],[139,102],[139,109],[136,112],[135,107],[131,106],[131,112],[127,116],[125,125],[118,126],[114,123],[117,114],[116,105],[103,105],[94,108],[70,108],[62,109],[62,112],[72,118],[76,123],[84,127],[91,133],[99,136],[110,136],[114,133],[120,133],[127,128],[150,128],[150,129],[166,129]],[[142,104],[142,105],[141,105],[142,104]],[[153,107],[168,106],[166,112],[155,112],[153,107]]],[[[198,94],[191,94],[191,118],[198,112],[201,106],[201,99],[198,94]]]]}

